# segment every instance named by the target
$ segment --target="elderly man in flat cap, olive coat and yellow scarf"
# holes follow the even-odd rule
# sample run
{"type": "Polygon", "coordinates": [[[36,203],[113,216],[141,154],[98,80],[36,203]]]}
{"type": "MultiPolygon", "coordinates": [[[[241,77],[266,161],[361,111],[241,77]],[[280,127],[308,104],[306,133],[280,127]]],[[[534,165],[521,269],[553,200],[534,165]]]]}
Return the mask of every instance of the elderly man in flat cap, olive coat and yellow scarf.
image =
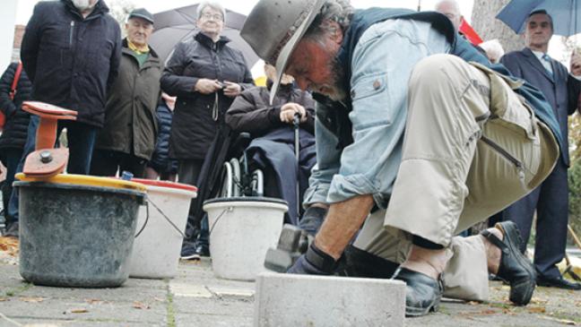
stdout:
{"type": "Polygon", "coordinates": [[[153,15],[143,8],[135,9],[125,27],[119,77],[108,94],[105,125],[97,135],[91,175],[115,176],[117,170],[126,170],[143,177],[155,149],[155,109],[163,63],[148,45],[153,15]]]}

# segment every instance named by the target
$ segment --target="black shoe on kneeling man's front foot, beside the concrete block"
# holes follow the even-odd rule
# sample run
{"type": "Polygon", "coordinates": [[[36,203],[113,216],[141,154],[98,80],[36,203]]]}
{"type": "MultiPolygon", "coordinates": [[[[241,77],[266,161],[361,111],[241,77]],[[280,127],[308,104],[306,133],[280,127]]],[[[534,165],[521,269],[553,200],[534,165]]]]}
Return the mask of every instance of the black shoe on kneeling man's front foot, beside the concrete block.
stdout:
{"type": "Polygon", "coordinates": [[[438,311],[444,293],[442,280],[434,280],[421,272],[403,267],[395,271],[394,280],[405,281],[406,316],[421,316],[438,311]]]}

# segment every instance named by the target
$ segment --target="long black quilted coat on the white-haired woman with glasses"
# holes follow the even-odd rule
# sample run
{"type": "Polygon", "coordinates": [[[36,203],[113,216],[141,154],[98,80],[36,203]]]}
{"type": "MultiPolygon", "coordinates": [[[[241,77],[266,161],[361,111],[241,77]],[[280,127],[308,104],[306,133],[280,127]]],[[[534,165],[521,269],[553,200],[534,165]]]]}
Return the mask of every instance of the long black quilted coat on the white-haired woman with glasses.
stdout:
{"type": "Polygon", "coordinates": [[[169,156],[174,159],[204,159],[205,152],[223,122],[224,113],[234,99],[221,90],[202,94],[194,90],[198,79],[236,82],[242,90],[254,86],[244,56],[229,47],[230,39],[221,37],[216,43],[204,33],[179,43],[169,58],[161,89],[177,96],[169,139],[169,156]],[[214,102],[218,101],[218,119],[212,118],[214,102]]]}

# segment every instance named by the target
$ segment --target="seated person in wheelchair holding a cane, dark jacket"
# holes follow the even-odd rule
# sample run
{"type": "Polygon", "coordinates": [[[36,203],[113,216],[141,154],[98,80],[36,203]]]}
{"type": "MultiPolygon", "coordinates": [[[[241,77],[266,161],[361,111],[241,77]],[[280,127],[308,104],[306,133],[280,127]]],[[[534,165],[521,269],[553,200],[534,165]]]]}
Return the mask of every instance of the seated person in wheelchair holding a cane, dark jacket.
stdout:
{"type": "MultiPolygon", "coordinates": [[[[315,155],[315,101],[310,93],[293,85],[293,78],[283,74],[280,89],[270,105],[270,86],[276,76],[272,65],[264,65],[268,87],[256,87],[243,91],[234,100],[226,113],[225,121],[238,133],[250,133],[253,142],[247,155],[263,169],[264,194],[282,198],[289,203],[286,221],[294,225],[299,222],[296,183],[299,179],[299,194],[308,187],[310,169],[316,162],[315,155]],[[297,171],[294,142],[293,118],[299,114],[299,178],[289,171],[297,171]],[[287,144],[281,147],[281,143],[287,144]]],[[[302,199],[302,196],[300,196],[302,199]]]]}

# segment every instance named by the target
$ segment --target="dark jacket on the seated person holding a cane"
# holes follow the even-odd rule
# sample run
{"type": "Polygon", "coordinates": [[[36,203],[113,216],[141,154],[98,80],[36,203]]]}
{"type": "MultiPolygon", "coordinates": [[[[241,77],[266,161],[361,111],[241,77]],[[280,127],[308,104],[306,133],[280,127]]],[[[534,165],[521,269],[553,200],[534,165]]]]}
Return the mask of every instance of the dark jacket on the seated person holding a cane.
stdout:
{"type": "MultiPolygon", "coordinates": [[[[269,83],[269,86],[272,83],[269,83]]],[[[281,85],[273,105],[270,105],[270,88],[256,87],[242,92],[226,113],[226,124],[236,132],[248,132],[253,138],[262,136],[287,123],[281,121],[282,105],[294,102],[307,109],[307,121],[300,127],[315,133],[315,100],[310,93],[292,84],[281,85]]]]}

